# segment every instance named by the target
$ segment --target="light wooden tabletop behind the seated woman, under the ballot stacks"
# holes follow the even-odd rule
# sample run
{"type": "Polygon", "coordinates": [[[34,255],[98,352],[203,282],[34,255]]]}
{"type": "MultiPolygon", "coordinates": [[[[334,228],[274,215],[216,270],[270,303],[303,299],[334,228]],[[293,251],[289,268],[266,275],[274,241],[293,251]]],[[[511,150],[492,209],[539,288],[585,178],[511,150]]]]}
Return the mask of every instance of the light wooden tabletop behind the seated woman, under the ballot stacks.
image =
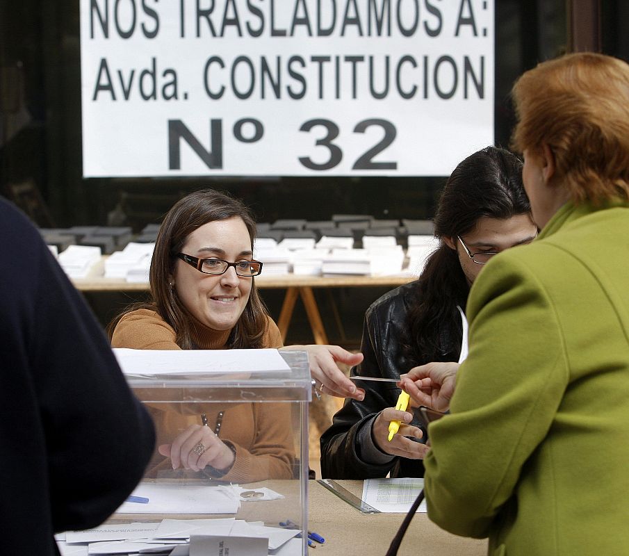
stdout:
{"type": "MultiPolygon", "coordinates": [[[[105,278],[104,264],[106,256],[92,265],[90,274],[85,278],[74,278],[72,283],[81,291],[148,291],[147,282],[133,283],[124,278],[105,278]]],[[[365,286],[402,286],[416,279],[409,272],[387,276],[307,276],[307,275],[260,275],[256,278],[258,288],[352,288],[365,286]]]]}

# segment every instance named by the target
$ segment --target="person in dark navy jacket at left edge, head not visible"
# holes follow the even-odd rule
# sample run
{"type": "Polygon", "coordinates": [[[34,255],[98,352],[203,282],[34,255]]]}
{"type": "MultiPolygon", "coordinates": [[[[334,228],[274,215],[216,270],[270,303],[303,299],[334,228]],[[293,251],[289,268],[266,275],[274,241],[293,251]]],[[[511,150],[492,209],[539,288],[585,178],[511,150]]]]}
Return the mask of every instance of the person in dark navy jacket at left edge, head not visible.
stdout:
{"type": "Polygon", "coordinates": [[[39,232],[0,199],[2,553],[58,555],[136,486],[154,445],[103,330],[39,232]]]}

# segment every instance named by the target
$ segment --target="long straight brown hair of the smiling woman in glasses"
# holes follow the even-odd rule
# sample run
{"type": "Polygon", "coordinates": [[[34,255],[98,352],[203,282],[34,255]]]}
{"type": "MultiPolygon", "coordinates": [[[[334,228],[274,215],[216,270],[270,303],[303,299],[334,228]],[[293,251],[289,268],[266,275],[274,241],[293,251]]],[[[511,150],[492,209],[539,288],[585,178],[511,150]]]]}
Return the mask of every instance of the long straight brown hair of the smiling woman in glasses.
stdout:
{"type": "MultiPolygon", "coordinates": [[[[208,222],[234,217],[245,222],[253,250],[256,223],[252,213],[238,199],[205,189],[190,193],[174,204],[161,224],[151,261],[149,285],[153,301],[134,304],[117,316],[108,326],[110,338],[115,325],[126,313],[136,309],[153,309],[175,330],[177,345],[183,350],[193,349],[195,344],[192,339],[192,316],[179,302],[177,292],[170,286],[177,254],[181,252],[188,236],[197,228],[208,222]]],[[[268,311],[258,295],[255,279],[251,280],[249,300],[229,335],[227,347],[263,347],[262,340],[268,326],[268,311]]]]}

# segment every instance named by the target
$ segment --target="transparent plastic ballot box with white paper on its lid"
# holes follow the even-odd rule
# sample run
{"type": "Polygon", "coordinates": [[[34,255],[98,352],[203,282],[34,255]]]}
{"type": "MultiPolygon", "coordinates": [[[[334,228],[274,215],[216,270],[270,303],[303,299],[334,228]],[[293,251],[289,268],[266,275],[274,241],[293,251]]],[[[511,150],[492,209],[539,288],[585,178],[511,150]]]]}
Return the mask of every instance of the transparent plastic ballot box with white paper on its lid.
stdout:
{"type": "Polygon", "coordinates": [[[156,447],[110,522],[158,523],[154,541],[189,537],[190,549],[199,536],[266,537],[269,554],[306,554],[306,352],[114,351],[156,447]]]}

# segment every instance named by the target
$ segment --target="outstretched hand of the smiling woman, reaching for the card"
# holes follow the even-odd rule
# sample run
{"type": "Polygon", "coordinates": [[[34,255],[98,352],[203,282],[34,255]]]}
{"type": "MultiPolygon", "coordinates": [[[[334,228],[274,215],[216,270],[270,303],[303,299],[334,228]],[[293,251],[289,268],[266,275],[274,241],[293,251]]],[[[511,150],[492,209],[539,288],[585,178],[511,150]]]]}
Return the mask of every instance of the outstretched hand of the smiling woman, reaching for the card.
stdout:
{"type": "Polygon", "coordinates": [[[349,366],[358,365],[363,354],[343,350],[338,345],[289,345],[280,350],[300,350],[308,352],[310,375],[317,382],[318,391],[339,398],[354,398],[361,402],[365,391],[357,386],[338,368],[337,362],[349,366]]]}

